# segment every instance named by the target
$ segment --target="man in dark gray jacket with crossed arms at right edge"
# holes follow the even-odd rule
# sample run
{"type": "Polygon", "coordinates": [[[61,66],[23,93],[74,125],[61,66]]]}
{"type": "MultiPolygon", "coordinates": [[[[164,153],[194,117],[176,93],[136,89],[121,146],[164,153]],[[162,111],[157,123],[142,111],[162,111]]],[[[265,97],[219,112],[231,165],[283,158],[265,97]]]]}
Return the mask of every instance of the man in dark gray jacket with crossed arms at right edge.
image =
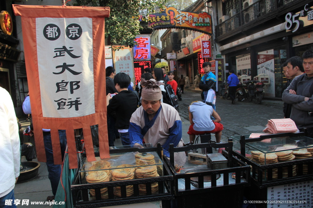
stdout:
{"type": "Polygon", "coordinates": [[[308,136],[313,138],[313,50],[302,55],[305,74],[296,76],[284,90],[282,99],[292,104],[290,119],[303,131],[308,128],[308,136]]]}

